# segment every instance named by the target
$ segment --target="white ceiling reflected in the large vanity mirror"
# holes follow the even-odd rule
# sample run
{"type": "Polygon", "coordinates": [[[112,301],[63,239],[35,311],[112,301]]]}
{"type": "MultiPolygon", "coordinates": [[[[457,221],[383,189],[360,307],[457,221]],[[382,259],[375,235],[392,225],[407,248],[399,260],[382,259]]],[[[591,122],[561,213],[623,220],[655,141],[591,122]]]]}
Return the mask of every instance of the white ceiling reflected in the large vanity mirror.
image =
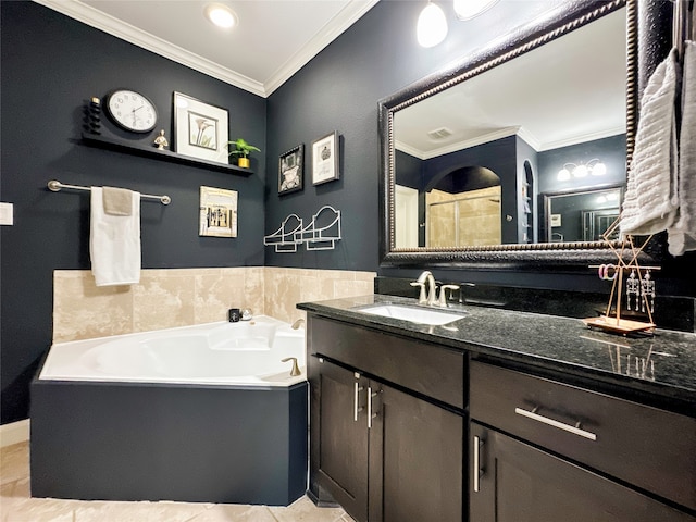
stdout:
{"type": "Polygon", "coordinates": [[[398,111],[395,146],[428,159],[514,134],[537,151],[623,134],[625,38],[622,9],[398,111]]]}

